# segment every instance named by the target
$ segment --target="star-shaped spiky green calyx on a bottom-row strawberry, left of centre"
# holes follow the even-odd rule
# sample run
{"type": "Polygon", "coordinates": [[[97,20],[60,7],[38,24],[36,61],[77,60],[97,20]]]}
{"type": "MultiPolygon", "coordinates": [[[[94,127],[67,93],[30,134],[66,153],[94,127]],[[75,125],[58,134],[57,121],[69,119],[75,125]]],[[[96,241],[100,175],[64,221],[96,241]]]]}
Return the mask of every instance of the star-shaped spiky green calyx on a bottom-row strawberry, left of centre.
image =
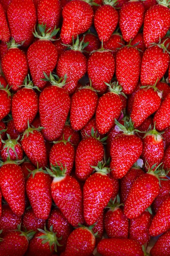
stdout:
{"type": "Polygon", "coordinates": [[[42,244],[49,243],[50,245],[50,251],[52,251],[51,246],[54,245],[54,250],[57,252],[57,246],[62,246],[63,244],[59,244],[58,240],[62,239],[62,236],[60,238],[57,238],[57,232],[53,232],[53,225],[51,225],[50,230],[48,231],[46,227],[44,227],[44,230],[38,228],[38,231],[43,233],[42,236],[37,236],[38,239],[41,239],[42,244]]]}

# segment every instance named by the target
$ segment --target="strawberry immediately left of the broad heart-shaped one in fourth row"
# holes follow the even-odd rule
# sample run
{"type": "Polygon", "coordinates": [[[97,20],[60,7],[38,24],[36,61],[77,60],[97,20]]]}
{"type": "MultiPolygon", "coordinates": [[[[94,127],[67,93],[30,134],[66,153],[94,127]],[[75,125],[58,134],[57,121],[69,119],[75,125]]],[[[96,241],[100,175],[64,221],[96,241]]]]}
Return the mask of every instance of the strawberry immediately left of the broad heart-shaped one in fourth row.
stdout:
{"type": "Polygon", "coordinates": [[[99,137],[94,136],[93,129],[91,135],[92,137],[82,140],[76,150],[76,176],[81,181],[85,181],[92,174],[94,168],[91,166],[96,166],[104,157],[102,142],[105,138],[99,140],[99,137]]]}

